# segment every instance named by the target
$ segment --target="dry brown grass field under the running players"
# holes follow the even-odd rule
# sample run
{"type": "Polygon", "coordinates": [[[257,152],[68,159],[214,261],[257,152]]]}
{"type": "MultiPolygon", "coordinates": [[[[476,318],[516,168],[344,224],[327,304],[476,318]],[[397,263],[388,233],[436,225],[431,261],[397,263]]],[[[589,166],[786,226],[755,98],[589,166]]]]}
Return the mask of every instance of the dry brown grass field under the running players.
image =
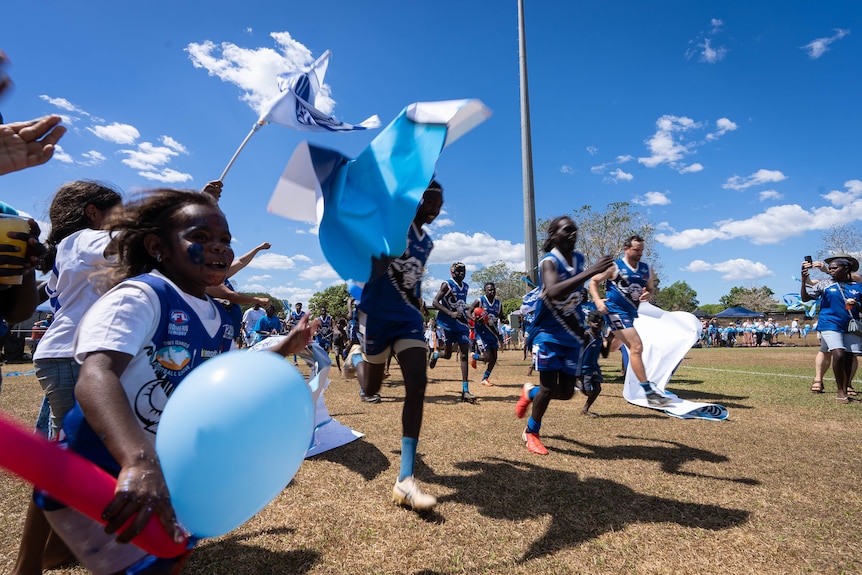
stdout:
{"type": "MultiPolygon", "coordinates": [[[[478,405],[457,401],[457,366],[441,360],[429,372],[416,471],[440,498],[427,515],[389,502],[400,373],[393,366],[378,405],[360,403],[355,380],[336,375],[330,412],[366,437],[307,460],[257,517],[202,543],[185,573],[862,572],[862,403],[836,405],[831,381],[833,393],[811,394],[813,355],[691,350],[670,387],[727,406],[725,422],[629,405],[612,356],[594,407],[601,418],[579,415],[580,396],[551,404],[547,457],[526,451],[513,415],[528,379],[520,353],[503,354],[496,387],[472,385],[478,405]]],[[[32,377],[4,378],[0,409],[32,420],[38,392],[32,377]]],[[[28,491],[0,475],[3,572],[28,491]]]]}

